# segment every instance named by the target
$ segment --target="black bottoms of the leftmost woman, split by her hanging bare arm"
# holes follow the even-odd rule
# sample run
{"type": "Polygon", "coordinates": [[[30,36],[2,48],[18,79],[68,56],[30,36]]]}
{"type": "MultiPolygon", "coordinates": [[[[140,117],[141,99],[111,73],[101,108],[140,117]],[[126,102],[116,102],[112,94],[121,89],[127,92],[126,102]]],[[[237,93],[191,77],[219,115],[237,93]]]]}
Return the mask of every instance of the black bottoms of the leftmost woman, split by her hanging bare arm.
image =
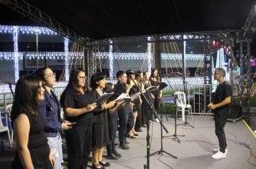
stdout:
{"type": "MultiPolygon", "coordinates": [[[[52,164],[49,160],[50,148],[49,145],[40,148],[29,149],[31,160],[35,169],[52,169],[52,164]]],[[[19,159],[19,154],[16,151],[15,158],[12,162],[12,168],[23,168],[22,162],[19,159]]]]}

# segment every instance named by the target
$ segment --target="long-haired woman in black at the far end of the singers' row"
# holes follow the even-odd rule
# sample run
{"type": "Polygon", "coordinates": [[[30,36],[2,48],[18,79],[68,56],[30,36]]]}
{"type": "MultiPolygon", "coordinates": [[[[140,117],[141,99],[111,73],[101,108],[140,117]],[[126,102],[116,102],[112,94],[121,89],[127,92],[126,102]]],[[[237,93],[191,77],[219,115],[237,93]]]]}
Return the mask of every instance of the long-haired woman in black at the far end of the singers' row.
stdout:
{"type": "MultiPolygon", "coordinates": [[[[158,75],[157,69],[152,69],[150,82],[152,86],[156,86],[156,87],[157,87],[157,84],[160,82],[160,77],[158,75]]],[[[154,100],[155,109],[158,110],[160,108],[160,100],[163,96],[162,90],[155,90],[154,92],[152,92],[152,95],[154,95],[155,97],[155,100],[154,100]]]]}

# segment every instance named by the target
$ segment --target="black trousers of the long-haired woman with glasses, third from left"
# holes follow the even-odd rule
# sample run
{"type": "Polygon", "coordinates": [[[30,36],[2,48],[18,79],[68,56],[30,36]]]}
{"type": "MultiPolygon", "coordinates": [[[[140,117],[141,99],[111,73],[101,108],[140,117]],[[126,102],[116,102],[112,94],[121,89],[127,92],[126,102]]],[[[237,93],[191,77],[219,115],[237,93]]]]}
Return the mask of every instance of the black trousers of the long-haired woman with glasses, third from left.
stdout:
{"type": "Polygon", "coordinates": [[[91,153],[92,120],[77,122],[65,132],[68,149],[68,168],[86,169],[91,153]]]}

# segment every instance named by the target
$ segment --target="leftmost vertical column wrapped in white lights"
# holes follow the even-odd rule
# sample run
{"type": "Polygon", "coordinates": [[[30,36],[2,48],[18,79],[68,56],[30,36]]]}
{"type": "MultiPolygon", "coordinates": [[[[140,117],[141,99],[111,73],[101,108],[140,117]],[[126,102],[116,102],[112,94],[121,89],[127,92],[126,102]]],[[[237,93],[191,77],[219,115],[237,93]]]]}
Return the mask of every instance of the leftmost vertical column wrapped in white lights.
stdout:
{"type": "Polygon", "coordinates": [[[12,40],[14,42],[14,82],[19,79],[19,50],[18,50],[18,26],[13,26],[12,40]]]}

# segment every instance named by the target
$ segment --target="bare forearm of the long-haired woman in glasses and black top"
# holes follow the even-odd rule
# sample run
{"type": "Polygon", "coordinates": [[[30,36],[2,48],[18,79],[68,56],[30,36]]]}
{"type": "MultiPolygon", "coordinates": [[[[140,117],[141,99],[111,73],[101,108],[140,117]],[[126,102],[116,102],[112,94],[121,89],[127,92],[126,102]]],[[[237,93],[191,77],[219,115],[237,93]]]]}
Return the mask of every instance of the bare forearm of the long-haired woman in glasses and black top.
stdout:
{"type": "Polygon", "coordinates": [[[93,103],[91,105],[88,105],[87,107],[83,107],[80,109],[65,107],[63,110],[64,110],[66,116],[76,117],[78,115],[82,115],[84,113],[91,112],[93,109],[95,109],[95,107],[96,107],[96,103],[93,103]]]}

